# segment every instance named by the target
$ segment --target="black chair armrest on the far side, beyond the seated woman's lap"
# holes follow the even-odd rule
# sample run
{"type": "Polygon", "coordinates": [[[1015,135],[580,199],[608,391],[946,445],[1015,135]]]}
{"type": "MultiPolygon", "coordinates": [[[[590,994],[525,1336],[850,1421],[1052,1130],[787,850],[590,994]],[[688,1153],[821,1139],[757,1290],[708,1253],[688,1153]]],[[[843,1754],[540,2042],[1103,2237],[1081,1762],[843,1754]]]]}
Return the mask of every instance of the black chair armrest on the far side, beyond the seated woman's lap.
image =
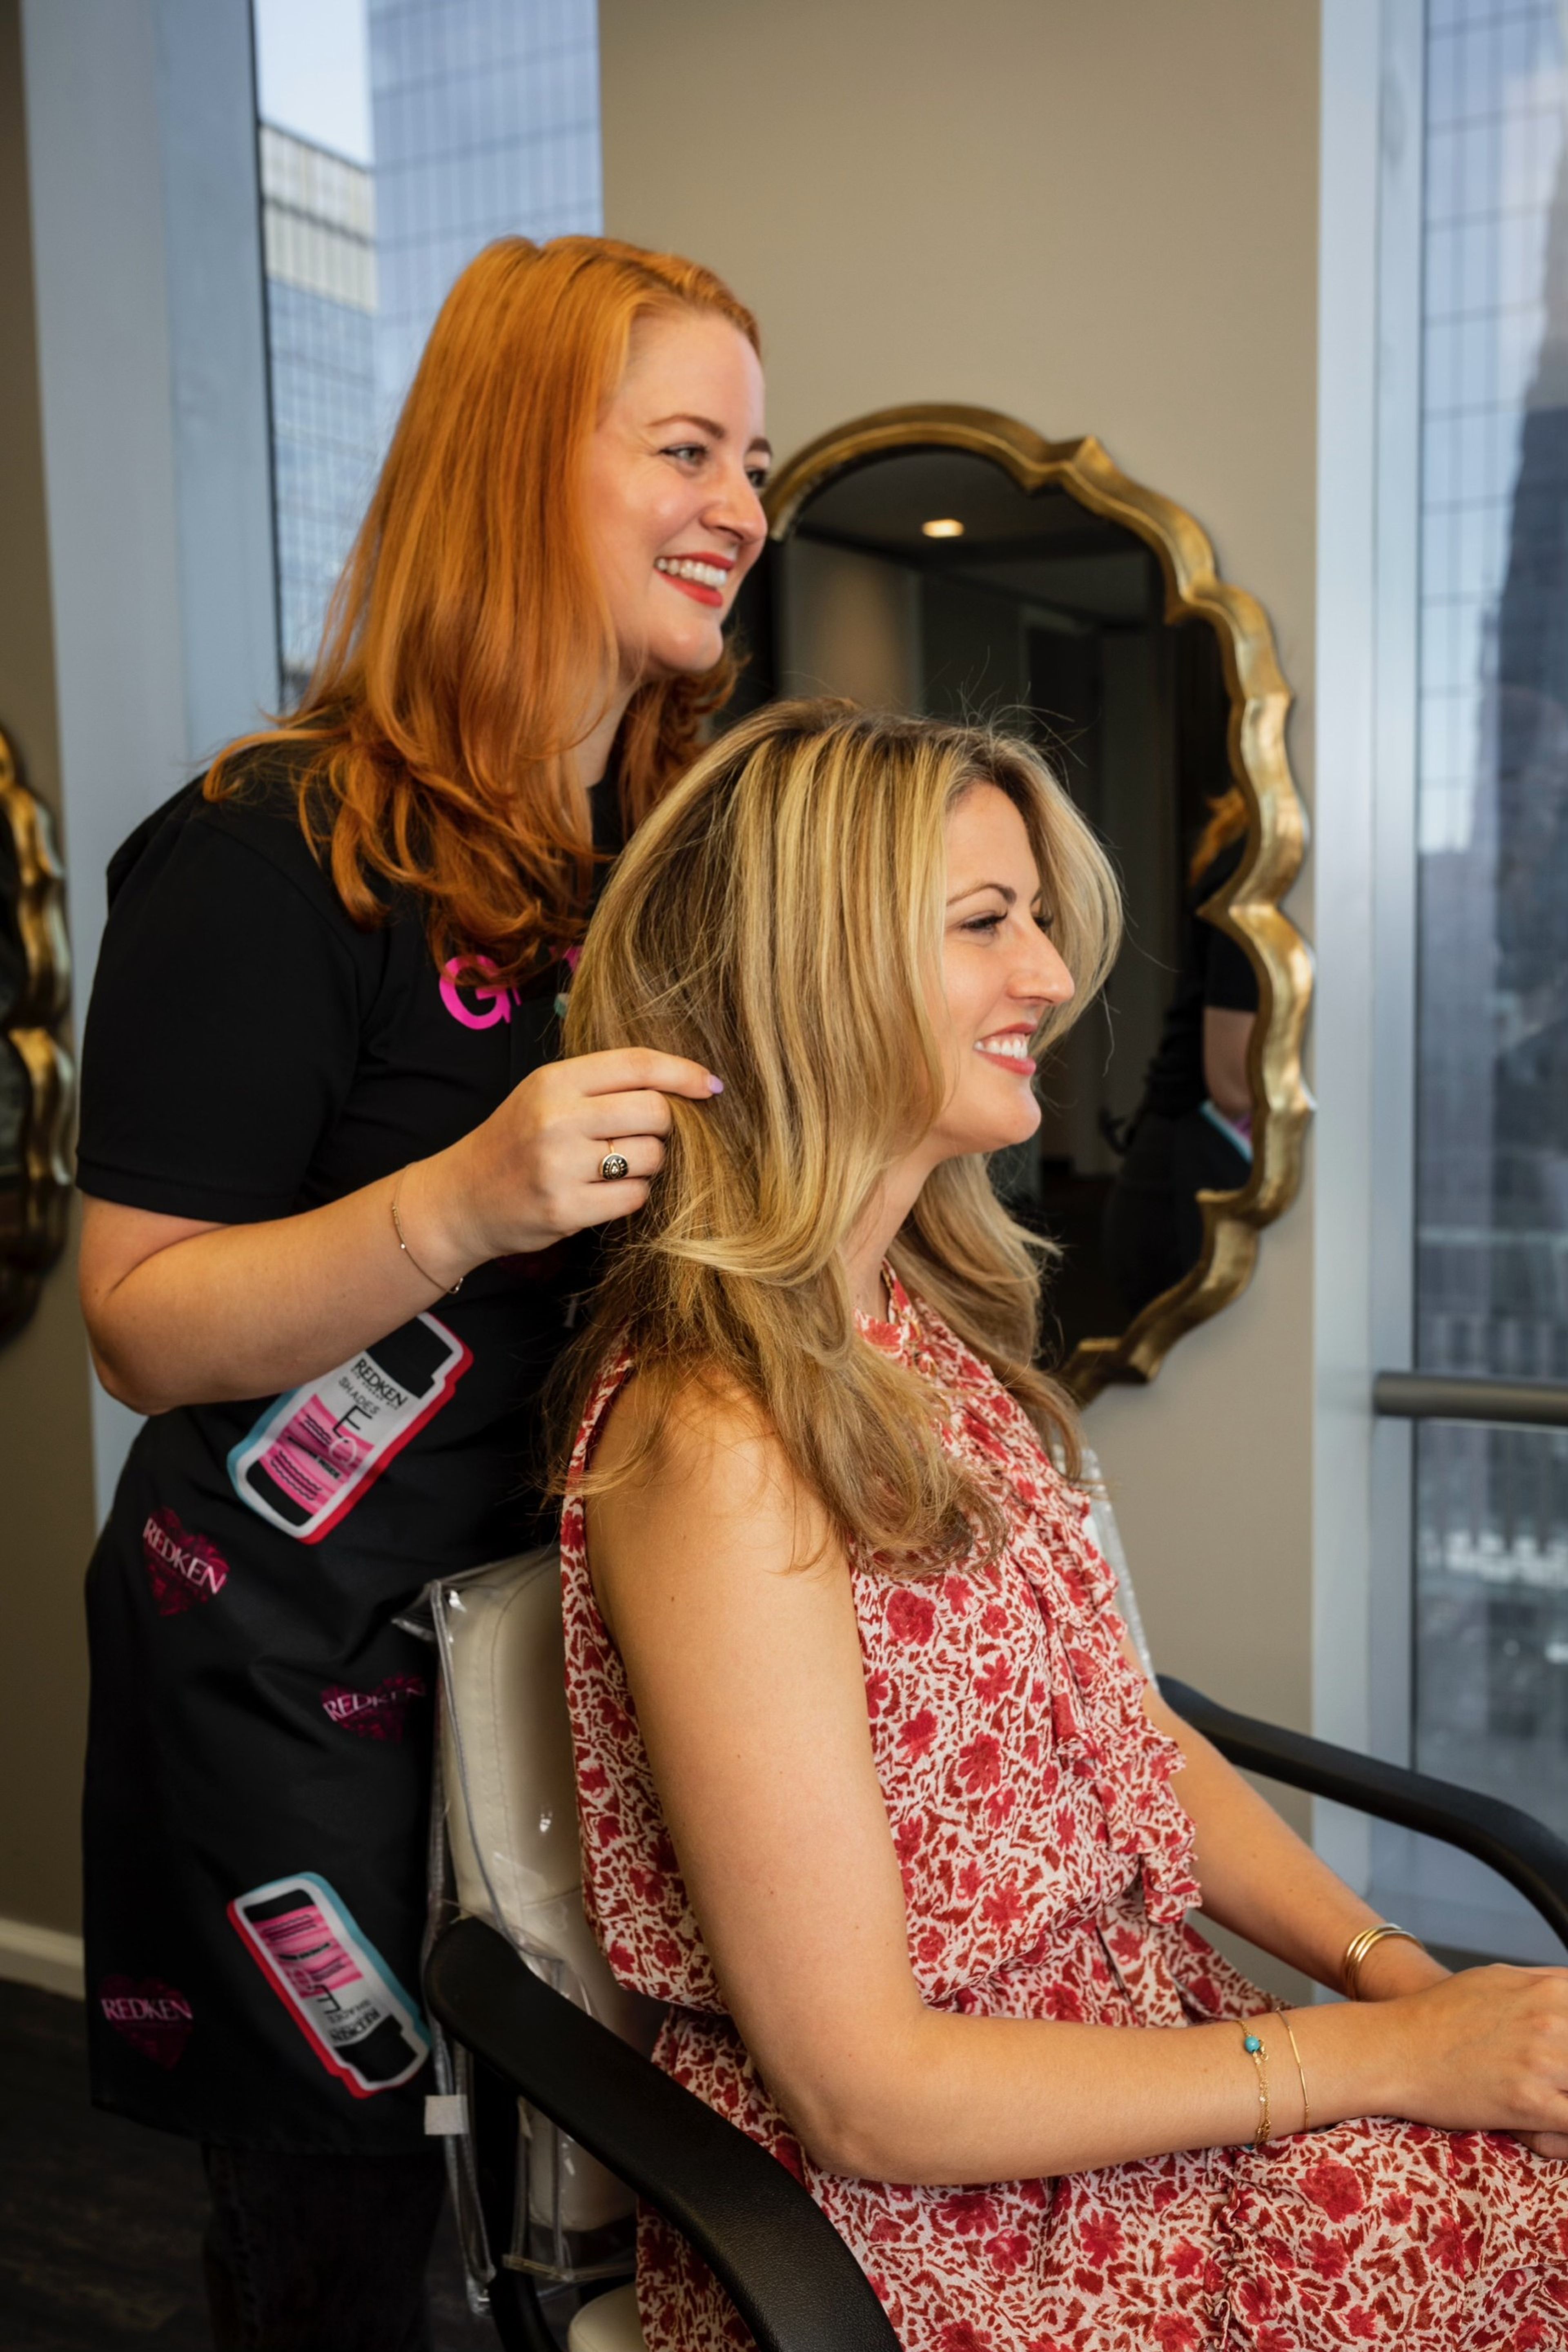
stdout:
{"type": "Polygon", "coordinates": [[[1568,1844],[1516,1804],[1458,1788],[1453,1780],[1434,1780],[1432,1773],[1410,1771],[1406,1764],[1356,1755],[1354,1748],[1333,1748],[1305,1731],[1284,1731],[1251,1715],[1232,1715],[1229,1708],[1220,1708],[1171,1675],[1159,1677],[1159,1689],[1185,1724],[1201,1731],[1244,1771],[1309,1790],[1314,1797],[1333,1797],[1356,1813],[1394,1820],[1401,1830],[1420,1830],[1422,1837],[1439,1837],[1474,1853],[1516,1886],[1559,1943],[1568,1945],[1568,1844]]]}

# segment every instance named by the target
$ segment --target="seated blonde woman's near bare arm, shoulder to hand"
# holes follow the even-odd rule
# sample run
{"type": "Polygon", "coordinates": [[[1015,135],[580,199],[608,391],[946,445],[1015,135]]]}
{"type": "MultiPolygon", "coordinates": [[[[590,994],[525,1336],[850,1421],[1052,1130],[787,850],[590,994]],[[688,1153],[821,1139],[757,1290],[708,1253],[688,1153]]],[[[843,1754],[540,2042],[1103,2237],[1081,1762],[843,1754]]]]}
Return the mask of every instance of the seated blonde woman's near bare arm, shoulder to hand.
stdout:
{"type": "MultiPolygon", "coordinates": [[[[599,1468],[628,1458],[635,1399],[632,1383],[599,1468]]],[[[844,1557],[748,1411],[691,1406],[632,1482],[590,1501],[588,1536],[724,1997],[820,2164],[882,2180],[1006,2180],[1251,2138],[1258,2086],[1237,2025],[926,2009],[844,1557]]],[[[1215,1900],[1253,1917],[1232,1886],[1251,1863],[1227,1851],[1246,1816],[1206,1811],[1215,1900]]],[[[1302,1924],[1279,1896],[1302,1950],[1324,1936],[1321,1903],[1309,1884],[1302,1924]]],[[[1568,2129],[1568,1973],[1474,1971],[1394,2002],[1295,2011],[1293,2025],[1316,2124],[1408,2114],[1568,2129]]],[[[1274,2117],[1291,2131],[1293,2065],[1276,2039],[1274,2117]]]]}

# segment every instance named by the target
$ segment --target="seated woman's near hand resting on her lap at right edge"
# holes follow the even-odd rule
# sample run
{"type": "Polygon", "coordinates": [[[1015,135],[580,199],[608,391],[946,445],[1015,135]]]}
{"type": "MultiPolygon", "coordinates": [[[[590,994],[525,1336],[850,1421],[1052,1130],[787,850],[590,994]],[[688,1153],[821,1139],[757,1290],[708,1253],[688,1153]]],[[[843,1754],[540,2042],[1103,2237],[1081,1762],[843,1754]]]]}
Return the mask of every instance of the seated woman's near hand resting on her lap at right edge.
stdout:
{"type": "Polygon", "coordinates": [[[1382,2013],[1401,2044],[1396,2114],[1568,2157],[1568,1969],[1465,1969],[1382,2013]]]}

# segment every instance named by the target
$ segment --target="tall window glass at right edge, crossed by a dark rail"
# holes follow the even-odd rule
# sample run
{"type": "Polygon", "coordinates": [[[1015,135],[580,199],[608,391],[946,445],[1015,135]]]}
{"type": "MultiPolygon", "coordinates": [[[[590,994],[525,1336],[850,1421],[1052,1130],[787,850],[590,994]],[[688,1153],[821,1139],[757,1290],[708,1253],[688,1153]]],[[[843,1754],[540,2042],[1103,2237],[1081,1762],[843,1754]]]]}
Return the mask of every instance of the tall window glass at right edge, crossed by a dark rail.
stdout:
{"type": "MultiPolygon", "coordinates": [[[[1415,1362],[1549,1381],[1568,1378],[1563,99],[1556,0],[1432,0],[1415,1362]]],[[[1418,1430],[1415,1759],[1568,1835],[1568,1432],[1418,1430]]]]}

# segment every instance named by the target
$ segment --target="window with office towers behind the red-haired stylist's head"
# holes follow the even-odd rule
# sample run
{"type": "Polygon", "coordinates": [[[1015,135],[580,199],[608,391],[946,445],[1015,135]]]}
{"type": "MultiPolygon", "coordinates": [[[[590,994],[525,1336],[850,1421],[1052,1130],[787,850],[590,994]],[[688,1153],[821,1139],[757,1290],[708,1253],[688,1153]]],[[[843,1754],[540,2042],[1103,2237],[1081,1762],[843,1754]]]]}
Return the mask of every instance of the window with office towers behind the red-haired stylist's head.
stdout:
{"type": "Polygon", "coordinates": [[[254,0],[282,694],[491,238],[597,233],[595,0],[254,0]]]}

